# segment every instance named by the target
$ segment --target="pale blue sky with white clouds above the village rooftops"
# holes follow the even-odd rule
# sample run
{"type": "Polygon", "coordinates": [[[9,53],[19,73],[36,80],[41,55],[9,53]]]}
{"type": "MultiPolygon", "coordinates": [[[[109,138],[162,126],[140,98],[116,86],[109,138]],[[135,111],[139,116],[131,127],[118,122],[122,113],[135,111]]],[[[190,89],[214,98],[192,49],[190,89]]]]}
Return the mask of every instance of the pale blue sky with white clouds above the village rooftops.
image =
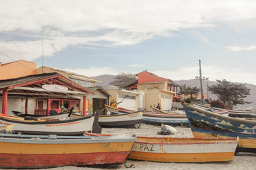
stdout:
{"type": "Polygon", "coordinates": [[[0,0],[0,62],[256,85],[256,1],[0,0]]]}

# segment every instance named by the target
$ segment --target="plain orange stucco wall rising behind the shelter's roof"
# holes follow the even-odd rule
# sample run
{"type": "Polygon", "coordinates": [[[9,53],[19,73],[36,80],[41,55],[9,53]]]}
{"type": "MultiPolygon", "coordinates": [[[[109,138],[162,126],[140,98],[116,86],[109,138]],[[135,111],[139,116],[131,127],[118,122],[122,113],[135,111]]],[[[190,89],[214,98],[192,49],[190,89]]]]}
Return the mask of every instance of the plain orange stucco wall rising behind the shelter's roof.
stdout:
{"type": "Polygon", "coordinates": [[[0,79],[13,79],[36,74],[36,63],[19,60],[0,64],[0,79]]]}

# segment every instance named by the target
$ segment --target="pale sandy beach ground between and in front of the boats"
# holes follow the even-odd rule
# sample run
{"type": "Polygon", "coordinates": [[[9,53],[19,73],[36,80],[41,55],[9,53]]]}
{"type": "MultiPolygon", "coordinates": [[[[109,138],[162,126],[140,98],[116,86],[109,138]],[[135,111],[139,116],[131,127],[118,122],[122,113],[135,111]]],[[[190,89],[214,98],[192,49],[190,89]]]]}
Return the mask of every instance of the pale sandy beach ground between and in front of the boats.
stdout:
{"type": "MultiPolygon", "coordinates": [[[[174,127],[178,133],[170,135],[172,137],[193,137],[190,128],[174,127]]],[[[102,133],[111,135],[137,135],[137,136],[163,136],[157,135],[160,131],[160,125],[147,125],[141,124],[139,129],[133,128],[103,128],[102,133]]],[[[165,136],[166,137],[166,136],[165,136]]],[[[187,170],[187,169],[213,169],[213,170],[243,170],[243,169],[256,169],[256,154],[252,153],[239,153],[233,158],[233,162],[211,162],[211,163],[159,163],[159,162],[146,162],[146,161],[135,161],[128,159],[126,166],[131,166],[130,169],[148,170],[148,169],[161,169],[161,170],[187,170]]],[[[88,170],[103,170],[103,169],[115,169],[123,170],[128,169],[124,164],[116,166],[90,166],[90,167],[76,167],[76,166],[65,166],[58,167],[48,170],[71,170],[71,169],[88,169],[88,170]]]]}

